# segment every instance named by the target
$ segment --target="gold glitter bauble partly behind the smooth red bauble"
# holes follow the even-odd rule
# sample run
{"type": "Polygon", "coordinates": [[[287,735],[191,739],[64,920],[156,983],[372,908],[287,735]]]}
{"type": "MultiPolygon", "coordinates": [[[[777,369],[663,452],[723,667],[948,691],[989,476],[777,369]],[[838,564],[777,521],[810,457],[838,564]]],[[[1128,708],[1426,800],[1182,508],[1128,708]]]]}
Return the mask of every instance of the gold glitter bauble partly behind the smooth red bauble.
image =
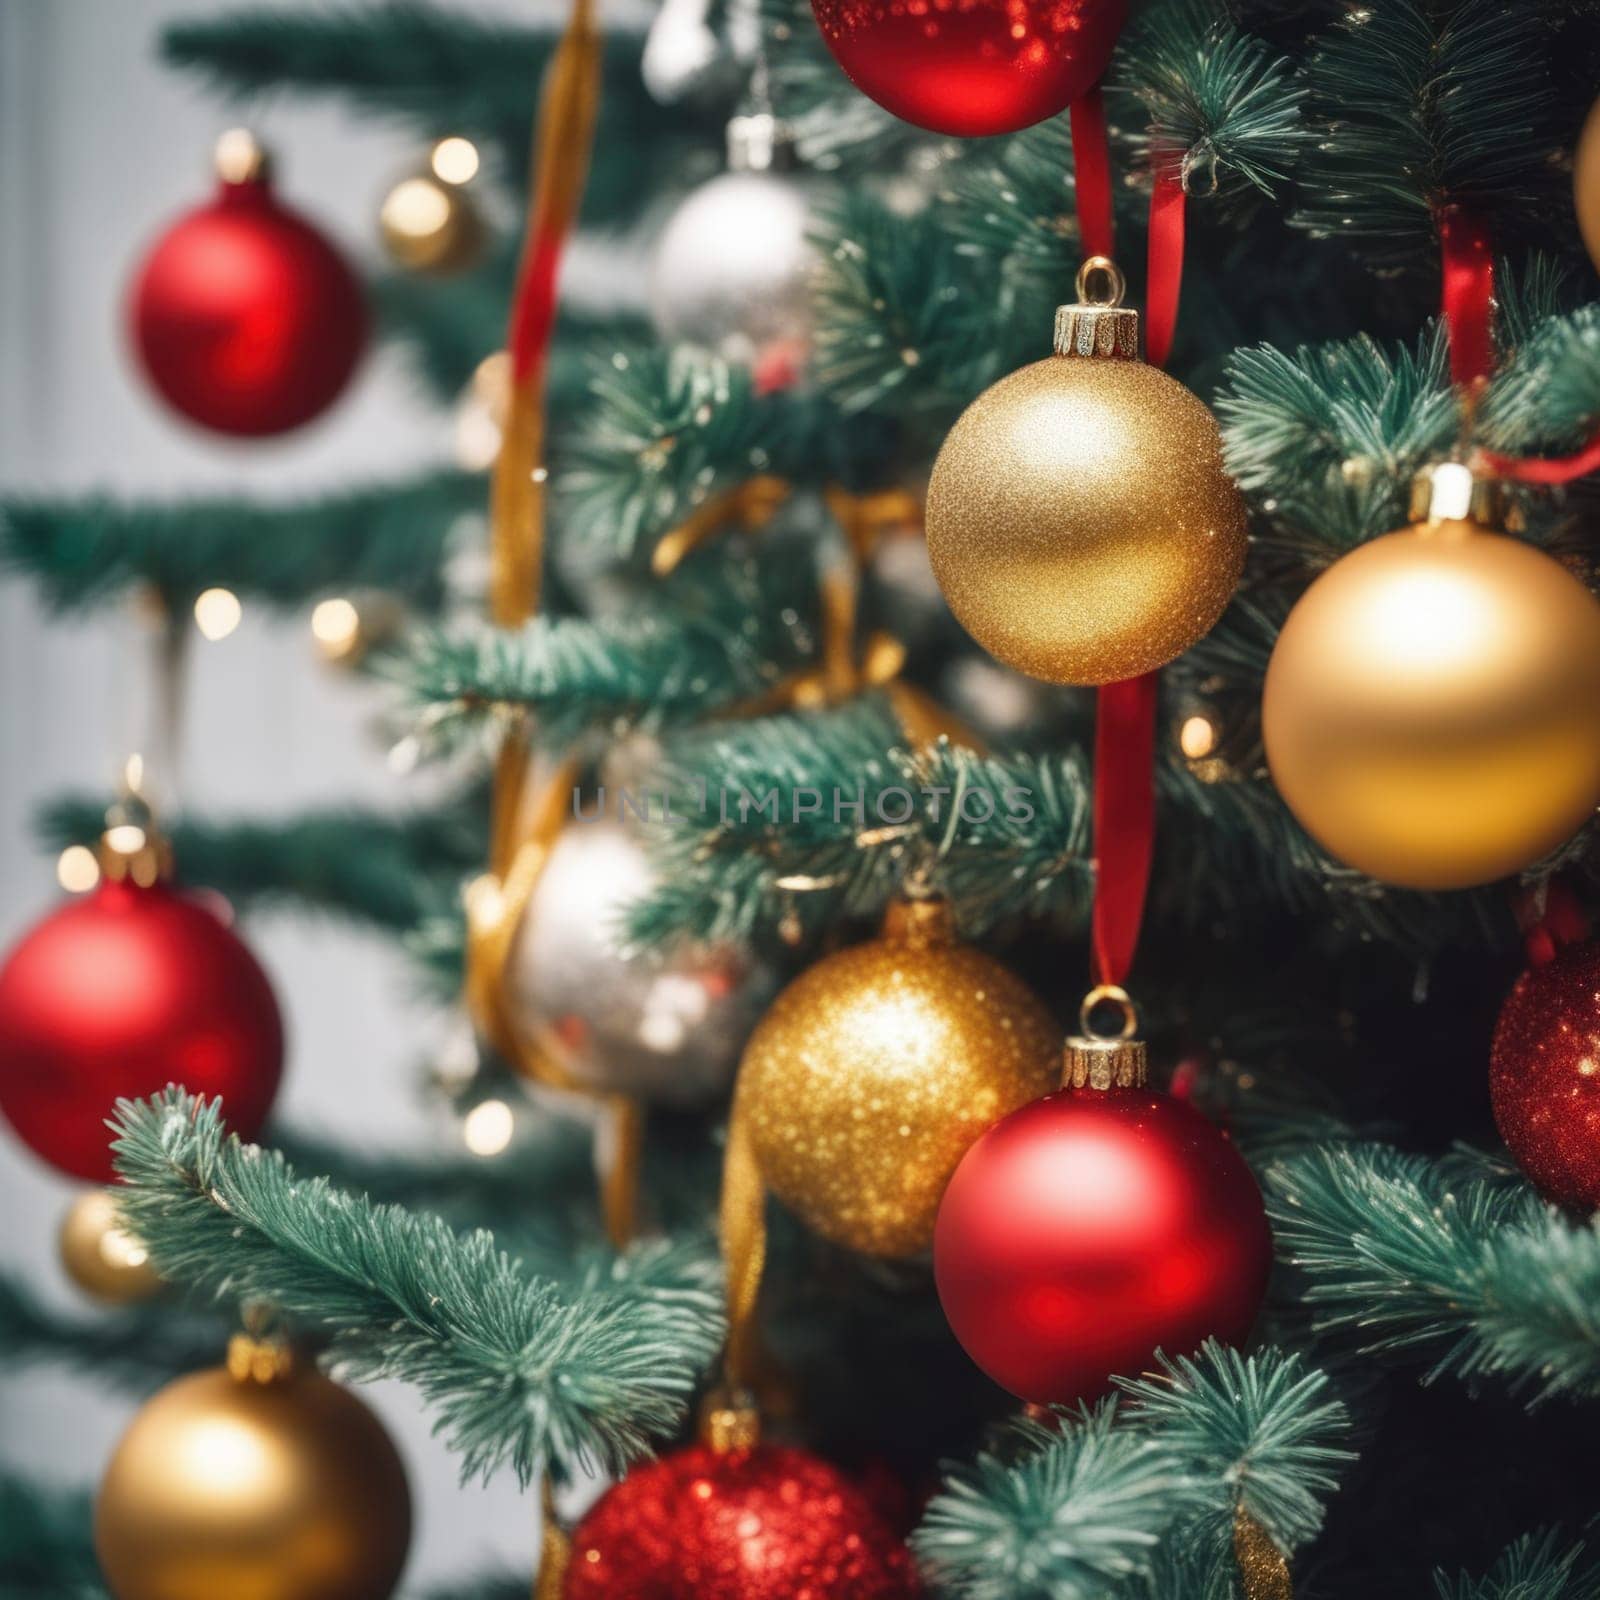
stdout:
{"type": "Polygon", "coordinates": [[[1061,1030],[942,902],[902,902],[867,944],[802,973],[750,1035],[734,1115],[766,1186],[872,1256],[933,1238],[968,1146],[1061,1075],[1061,1030]]]}

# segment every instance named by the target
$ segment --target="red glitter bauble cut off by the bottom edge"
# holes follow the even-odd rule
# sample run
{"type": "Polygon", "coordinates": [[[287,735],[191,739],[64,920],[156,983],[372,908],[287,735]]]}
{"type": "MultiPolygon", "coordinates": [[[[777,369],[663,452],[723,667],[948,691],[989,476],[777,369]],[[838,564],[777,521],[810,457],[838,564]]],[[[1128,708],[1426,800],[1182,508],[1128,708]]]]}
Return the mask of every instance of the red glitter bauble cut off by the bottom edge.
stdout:
{"type": "Polygon", "coordinates": [[[578,1525],[565,1600],[907,1600],[910,1555],[803,1450],[694,1446],[635,1467],[578,1525]]]}

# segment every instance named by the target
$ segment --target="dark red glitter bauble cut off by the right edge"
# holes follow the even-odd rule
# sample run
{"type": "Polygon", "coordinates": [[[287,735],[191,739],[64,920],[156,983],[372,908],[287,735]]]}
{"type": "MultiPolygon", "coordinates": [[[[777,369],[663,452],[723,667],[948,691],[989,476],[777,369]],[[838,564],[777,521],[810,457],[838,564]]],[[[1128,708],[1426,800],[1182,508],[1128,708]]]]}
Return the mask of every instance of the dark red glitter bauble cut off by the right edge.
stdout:
{"type": "Polygon", "coordinates": [[[1600,942],[1517,979],[1490,1050],[1494,1122],[1555,1205],[1600,1208],[1600,942]]]}

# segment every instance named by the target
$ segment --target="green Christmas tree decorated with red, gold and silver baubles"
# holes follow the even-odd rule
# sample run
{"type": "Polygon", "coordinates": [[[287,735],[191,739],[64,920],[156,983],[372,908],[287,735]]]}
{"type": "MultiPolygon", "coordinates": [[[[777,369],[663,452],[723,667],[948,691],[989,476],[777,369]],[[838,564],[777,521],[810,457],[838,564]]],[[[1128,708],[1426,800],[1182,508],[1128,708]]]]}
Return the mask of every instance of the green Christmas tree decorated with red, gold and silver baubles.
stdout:
{"type": "Polygon", "coordinates": [[[114,1309],[0,1282],[0,1349],[149,1398],[80,1494],[6,1469],[0,1590],[395,1592],[384,1378],[541,1525],[462,1597],[1600,1594],[1600,11],[160,48],[421,154],[357,285],[224,139],[130,264],[152,405],[314,422],[370,322],[459,466],[0,552],[150,602],[157,699],[309,614],[429,798],[168,808],[168,706],[40,816],[0,1110],[114,1309]],[[456,1154],[274,1122],[261,906],[462,1019],[456,1154]]]}

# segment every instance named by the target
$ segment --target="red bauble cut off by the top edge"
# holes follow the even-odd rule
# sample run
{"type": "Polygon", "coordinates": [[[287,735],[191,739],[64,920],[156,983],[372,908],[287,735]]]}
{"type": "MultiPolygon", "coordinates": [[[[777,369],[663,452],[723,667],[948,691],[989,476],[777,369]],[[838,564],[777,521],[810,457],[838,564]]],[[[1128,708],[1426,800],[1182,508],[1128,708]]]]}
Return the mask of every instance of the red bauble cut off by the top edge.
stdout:
{"type": "Polygon", "coordinates": [[[934,133],[1016,133],[1106,70],[1126,0],[811,0],[862,94],[934,133]]]}

